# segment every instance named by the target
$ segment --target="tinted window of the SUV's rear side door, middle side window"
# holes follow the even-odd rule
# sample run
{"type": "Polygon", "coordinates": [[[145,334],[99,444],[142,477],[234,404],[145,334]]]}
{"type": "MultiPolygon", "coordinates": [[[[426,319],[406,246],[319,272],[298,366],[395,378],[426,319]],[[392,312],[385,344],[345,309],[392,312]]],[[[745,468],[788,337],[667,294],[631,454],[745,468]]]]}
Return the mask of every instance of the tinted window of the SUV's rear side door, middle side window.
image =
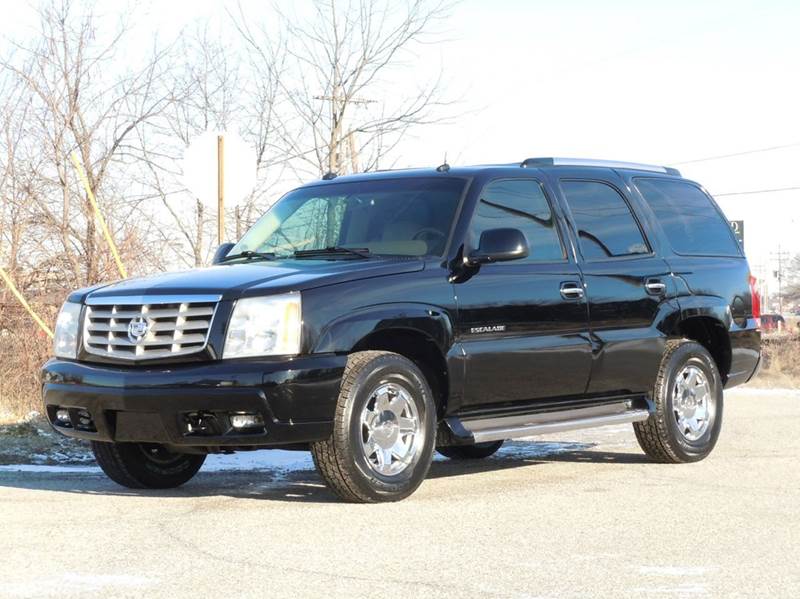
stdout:
{"type": "Polygon", "coordinates": [[[587,260],[648,254],[650,249],[628,203],[610,185],[562,181],[581,251],[587,260]]]}

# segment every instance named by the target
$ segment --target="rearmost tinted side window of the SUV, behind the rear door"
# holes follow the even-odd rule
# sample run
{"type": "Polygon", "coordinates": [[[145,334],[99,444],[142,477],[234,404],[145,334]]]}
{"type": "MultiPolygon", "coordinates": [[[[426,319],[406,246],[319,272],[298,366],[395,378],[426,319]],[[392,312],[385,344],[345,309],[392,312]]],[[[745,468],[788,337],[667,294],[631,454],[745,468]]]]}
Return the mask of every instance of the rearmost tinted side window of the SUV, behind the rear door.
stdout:
{"type": "Polygon", "coordinates": [[[635,179],[679,254],[738,256],[731,228],[701,189],[685,181],[635,179]]]}

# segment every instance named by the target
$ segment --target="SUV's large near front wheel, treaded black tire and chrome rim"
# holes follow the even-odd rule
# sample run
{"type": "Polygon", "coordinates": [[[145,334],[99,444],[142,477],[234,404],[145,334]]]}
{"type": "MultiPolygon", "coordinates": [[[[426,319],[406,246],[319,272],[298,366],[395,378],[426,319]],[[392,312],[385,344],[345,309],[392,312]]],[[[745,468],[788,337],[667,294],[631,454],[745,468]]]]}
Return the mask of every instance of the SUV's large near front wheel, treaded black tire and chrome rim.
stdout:
{"type": "Polygon", "coordinates": [[[349,356],[333,434],[311,444],[328,487],[345,501],[408,497],[425,479],[435,442],[436,407],[413,362],[384,351],[349,356]]]}

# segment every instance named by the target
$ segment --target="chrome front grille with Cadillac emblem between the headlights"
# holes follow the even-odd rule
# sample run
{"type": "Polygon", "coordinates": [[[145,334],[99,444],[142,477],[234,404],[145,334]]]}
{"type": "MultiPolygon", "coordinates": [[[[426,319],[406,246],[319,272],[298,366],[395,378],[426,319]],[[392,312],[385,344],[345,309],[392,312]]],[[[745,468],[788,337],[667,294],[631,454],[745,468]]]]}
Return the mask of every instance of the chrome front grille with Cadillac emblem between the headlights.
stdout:
{"type": "Polygon", "coordinates": [[[205,348],[218,298],[141,299],[148,303],[90,299],[83,328],[86,351],[122,360],[156,360],[205,348]]]}

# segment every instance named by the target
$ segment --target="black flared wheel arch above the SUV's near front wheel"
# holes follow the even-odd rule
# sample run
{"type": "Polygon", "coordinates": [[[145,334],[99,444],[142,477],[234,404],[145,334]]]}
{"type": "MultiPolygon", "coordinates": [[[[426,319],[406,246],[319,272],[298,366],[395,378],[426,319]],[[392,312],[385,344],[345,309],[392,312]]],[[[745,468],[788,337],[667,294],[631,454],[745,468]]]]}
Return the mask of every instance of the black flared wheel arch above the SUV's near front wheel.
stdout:
{"type": "Polygon", "coordinates": [[[328,323],[312,353],[348,353],[373,333],[404,329],[431,339],[446,355],[453,344],[453,323],[445,310],[420,303],[379,304],[360,308],[328,323]]]}

